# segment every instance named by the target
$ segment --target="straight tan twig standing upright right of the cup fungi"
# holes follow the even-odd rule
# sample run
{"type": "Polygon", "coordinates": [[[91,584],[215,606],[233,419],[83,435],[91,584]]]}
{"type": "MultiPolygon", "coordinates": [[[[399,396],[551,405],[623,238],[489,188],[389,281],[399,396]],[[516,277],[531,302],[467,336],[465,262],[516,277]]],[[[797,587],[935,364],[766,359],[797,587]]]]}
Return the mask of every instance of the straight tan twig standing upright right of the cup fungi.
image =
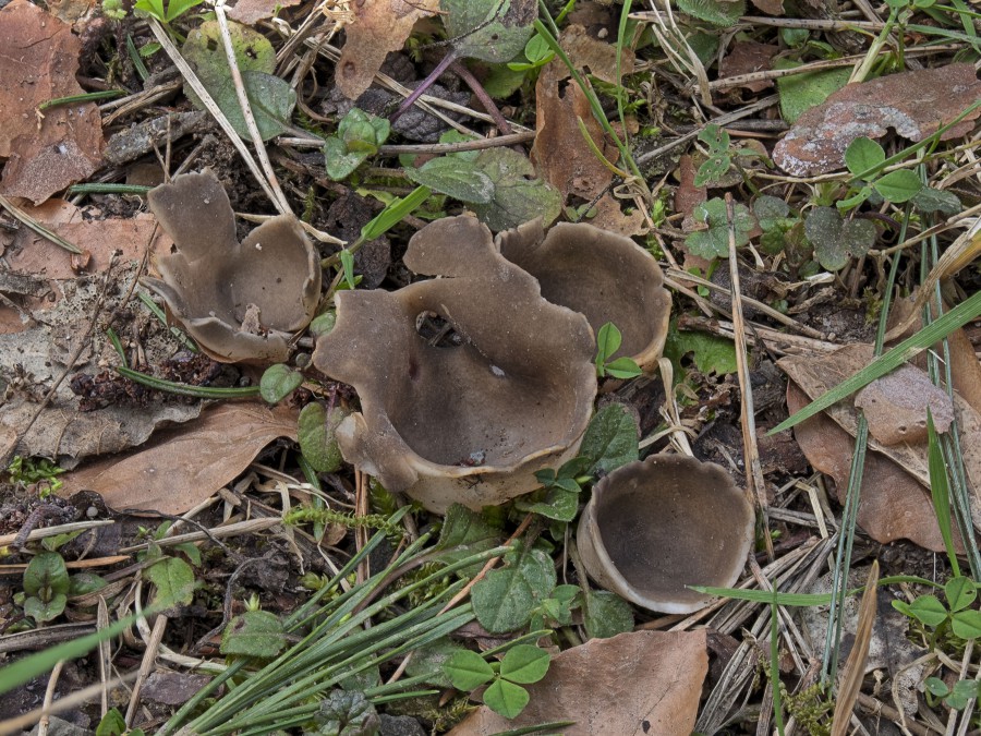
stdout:
{"type": "Polygon", "coordinates": [[[726,192],[726,218],[729,229],[729,277],[732,283],[732,324],[736,333],[736,372],[739,376],[740,424],[742,425],[742,456],[746,470],[746,490],[750,500],[755,499],[760,521],[763,524],[763,542],[766,556],[772,562],[773,539],[770,535],[770,517],[766,512],[766,482],[760,464],[760,449],[756,446],[756,419],[753,413],[753,387],[750,383],[749,366],[746,362],[746,322],[742,318],[742,301],[739,298],[739,258],[736,255],[736,215],[732,195],[726,192]]]}

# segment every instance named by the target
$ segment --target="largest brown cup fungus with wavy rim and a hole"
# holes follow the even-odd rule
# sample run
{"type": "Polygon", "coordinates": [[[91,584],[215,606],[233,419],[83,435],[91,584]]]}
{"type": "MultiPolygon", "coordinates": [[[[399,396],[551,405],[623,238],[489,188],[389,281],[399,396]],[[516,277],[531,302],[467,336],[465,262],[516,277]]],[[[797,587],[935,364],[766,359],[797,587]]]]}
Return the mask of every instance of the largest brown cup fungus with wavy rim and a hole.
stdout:
{"type": "Polygon", "coordinates": [[[337,325],[317,340],[317,369],[361,398],[337,430],[344,459],[434,511],[528,493],[535,471],[574,455],[589,423],[585,317],[543,299],[471,217],[420,230],[404,263],[443,278],[338,292],[337,325]],[[434,315],[441,327],[421,334],[434,315]]]}

